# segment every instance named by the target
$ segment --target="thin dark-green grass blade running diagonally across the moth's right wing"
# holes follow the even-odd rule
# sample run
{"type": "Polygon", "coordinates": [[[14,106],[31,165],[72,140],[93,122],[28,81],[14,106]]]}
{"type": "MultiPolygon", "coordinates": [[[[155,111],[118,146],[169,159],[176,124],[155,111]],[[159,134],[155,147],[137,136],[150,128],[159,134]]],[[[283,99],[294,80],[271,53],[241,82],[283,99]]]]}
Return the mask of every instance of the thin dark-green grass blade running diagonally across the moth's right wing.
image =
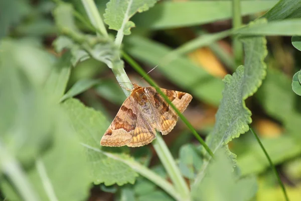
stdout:
{"type": "Polygon", "coordinates": [[[204,142],[204,140],[200,137],[200,135],[197,133],[197,131],[193,128],[193,126],[190,124],[190,122],[184,117],[182,113],[172,104],[171,100],[160,90],[160,87],[158,84],[150,78],[146,72],[139,66],[138,63],[136,63],[128,54],[125,52],[122,52],[123,58],[140,74],[144,77],[144,79],[152,86],[156,88],[156,90],[162,95],[162,97],[166,100],[166,102],[175,110],[175,112],[179,115],[179,117],[182,119],[182,121],[186,124],[186,126],[190,129],[190,131],[193,133],[193,135],[197,138],[197,140],[203,145],[203,147],[206,149],[206,151],[211,155],[211,157],[214,157],[213,152],[210,150],[210,148],[207,146],[207,144],[204,142]]]}

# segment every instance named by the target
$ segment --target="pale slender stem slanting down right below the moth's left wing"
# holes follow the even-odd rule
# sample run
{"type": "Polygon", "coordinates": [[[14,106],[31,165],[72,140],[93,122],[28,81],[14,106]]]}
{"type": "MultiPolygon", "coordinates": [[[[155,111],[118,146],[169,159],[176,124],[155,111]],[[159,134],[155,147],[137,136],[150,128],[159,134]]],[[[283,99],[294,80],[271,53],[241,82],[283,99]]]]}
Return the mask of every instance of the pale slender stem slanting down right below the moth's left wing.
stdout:
{"type": "Polygon", "coordinates": [[[165,190],[169,195],[174,197],[176,200],[183,200],[180,194],[176,191],[173,185],[171,185],[168,181],[163,179],[161,176],[156,174],[154,171],[148,169],[147,167],[141,165],[140,163],[134,161],[134,160],[126,160],[122,157],[119,157],[116,154],[111,154],[108,152],[104,152],[98,148],[91,147],[87,144],[81,143],[83,146],[85,146],[88,149],[92,149],[94,151],[100,152],[104,155],[106,155],[109,158],[113,158],[114,160],[121,161],[125,164],[127,164],[130,168],[141,174],[143,177],[147,178],[148,180],[154,182],[156,185],[161,187],[163,190],[165,190]]]}

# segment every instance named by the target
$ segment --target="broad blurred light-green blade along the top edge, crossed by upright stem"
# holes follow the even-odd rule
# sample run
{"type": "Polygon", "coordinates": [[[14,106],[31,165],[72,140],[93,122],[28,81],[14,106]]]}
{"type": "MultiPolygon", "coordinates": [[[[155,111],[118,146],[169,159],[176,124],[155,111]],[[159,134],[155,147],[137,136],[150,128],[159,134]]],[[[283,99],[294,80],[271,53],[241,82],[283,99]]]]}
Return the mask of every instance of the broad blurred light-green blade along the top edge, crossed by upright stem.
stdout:
{"type": "MultiPolygon", "coordinates": [[[[278,1],[241,1],[241,15],[267,11],[278,1]]],[[[232,1],[162,2],[148,12],[137,14],[133,22],[146,29],[187,27],[230,19],[232,1]],[[181,12],[179,12],[181,11],[181,12]]]]}

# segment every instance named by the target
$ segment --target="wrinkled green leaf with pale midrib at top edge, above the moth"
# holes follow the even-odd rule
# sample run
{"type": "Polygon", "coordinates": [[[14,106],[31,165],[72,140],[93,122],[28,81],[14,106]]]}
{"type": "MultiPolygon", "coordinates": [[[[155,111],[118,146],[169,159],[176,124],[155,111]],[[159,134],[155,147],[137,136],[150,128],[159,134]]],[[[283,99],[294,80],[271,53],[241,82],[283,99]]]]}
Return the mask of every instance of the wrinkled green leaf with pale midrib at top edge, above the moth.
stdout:
{"type": "Polygon", "coordinates": [[[137,12],[141,13],[153,7],[158,0],[110,0],[105,10],[104,22],[109,29],[121,30],[124,35],[130,34],[135,26],[129,19],[137,12]]]}

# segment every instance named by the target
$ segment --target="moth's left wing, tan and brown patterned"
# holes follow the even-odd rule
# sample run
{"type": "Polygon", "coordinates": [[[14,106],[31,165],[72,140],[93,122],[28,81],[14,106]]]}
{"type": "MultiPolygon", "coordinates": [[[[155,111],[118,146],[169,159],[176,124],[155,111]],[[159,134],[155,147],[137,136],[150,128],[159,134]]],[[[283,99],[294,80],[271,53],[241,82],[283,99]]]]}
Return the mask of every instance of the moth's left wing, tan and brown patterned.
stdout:
{"type": "Polygon", "coordinates": [[[137,124],[137,106],[126,98],[113,122],[101,138],[100,144],[121,147],[132,141],[137,124]]]}

